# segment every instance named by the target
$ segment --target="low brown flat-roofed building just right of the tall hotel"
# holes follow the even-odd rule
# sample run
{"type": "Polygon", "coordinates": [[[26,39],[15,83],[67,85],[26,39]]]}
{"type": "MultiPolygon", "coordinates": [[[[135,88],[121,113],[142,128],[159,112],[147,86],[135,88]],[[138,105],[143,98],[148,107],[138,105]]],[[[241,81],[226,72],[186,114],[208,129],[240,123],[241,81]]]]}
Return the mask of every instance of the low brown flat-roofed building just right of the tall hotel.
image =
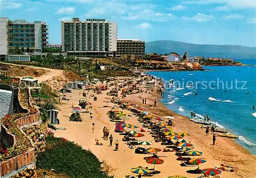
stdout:
{"type": "Polygon", "coordinates": [[[144,55],[145,41],[138,39],[117,39],[117,55],[144,55]]]}

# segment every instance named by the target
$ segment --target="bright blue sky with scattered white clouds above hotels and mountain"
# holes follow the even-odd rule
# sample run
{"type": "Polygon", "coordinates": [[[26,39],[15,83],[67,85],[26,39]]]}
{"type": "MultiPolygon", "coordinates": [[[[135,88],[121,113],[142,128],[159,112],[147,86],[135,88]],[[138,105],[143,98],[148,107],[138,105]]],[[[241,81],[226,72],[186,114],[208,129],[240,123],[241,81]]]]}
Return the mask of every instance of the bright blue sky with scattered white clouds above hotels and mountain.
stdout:
{"type": "Polygon", "coordinates": [[[1,17],[45,21],[61,43],[61,20],[115,21],[119,39],[256,46],[256,0],[0,0],[1,17]]]}

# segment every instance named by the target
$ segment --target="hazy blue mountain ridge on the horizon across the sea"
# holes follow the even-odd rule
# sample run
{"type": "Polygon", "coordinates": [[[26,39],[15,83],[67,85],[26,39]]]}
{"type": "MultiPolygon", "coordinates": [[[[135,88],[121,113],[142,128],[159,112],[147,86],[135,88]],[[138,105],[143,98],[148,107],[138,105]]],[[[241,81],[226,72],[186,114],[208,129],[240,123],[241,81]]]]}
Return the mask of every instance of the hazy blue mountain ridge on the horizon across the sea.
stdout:
{"type": "Polygon", "coordinates": [[[146,42],[146,53],[165,54],[176,52],[187,56],[211,58],[256,59],[256,47],[240,45],[191,44],[178,41],[161,40],[146,42]]]}

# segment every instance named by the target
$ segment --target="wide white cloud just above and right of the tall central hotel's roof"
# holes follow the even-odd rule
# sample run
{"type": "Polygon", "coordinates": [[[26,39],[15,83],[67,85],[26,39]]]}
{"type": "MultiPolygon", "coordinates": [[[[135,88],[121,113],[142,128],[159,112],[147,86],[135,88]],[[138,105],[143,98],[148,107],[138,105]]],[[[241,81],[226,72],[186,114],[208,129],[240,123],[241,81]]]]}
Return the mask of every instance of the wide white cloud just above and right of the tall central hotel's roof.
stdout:
{"type": "Polygon", "coordinates": [[[143,10],[139,12],[130,12],[127,16],[122,17],[124,20],[151,20],[151,21],[168,21],[176,19],[171,13],[158,13],[153,10],[143,10]]]}

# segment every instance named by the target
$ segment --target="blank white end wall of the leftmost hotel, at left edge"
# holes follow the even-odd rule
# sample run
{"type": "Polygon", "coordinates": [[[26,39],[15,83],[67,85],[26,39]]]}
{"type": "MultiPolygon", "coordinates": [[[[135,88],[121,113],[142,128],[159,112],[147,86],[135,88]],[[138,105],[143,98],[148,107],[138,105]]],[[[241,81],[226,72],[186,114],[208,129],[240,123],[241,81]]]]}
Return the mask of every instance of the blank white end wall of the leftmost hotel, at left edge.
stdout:
{"type": "Polygon", "coordinates": [[[7,22],[8,18],[0,18],[0,55],[7,55],[7,22]]]}

